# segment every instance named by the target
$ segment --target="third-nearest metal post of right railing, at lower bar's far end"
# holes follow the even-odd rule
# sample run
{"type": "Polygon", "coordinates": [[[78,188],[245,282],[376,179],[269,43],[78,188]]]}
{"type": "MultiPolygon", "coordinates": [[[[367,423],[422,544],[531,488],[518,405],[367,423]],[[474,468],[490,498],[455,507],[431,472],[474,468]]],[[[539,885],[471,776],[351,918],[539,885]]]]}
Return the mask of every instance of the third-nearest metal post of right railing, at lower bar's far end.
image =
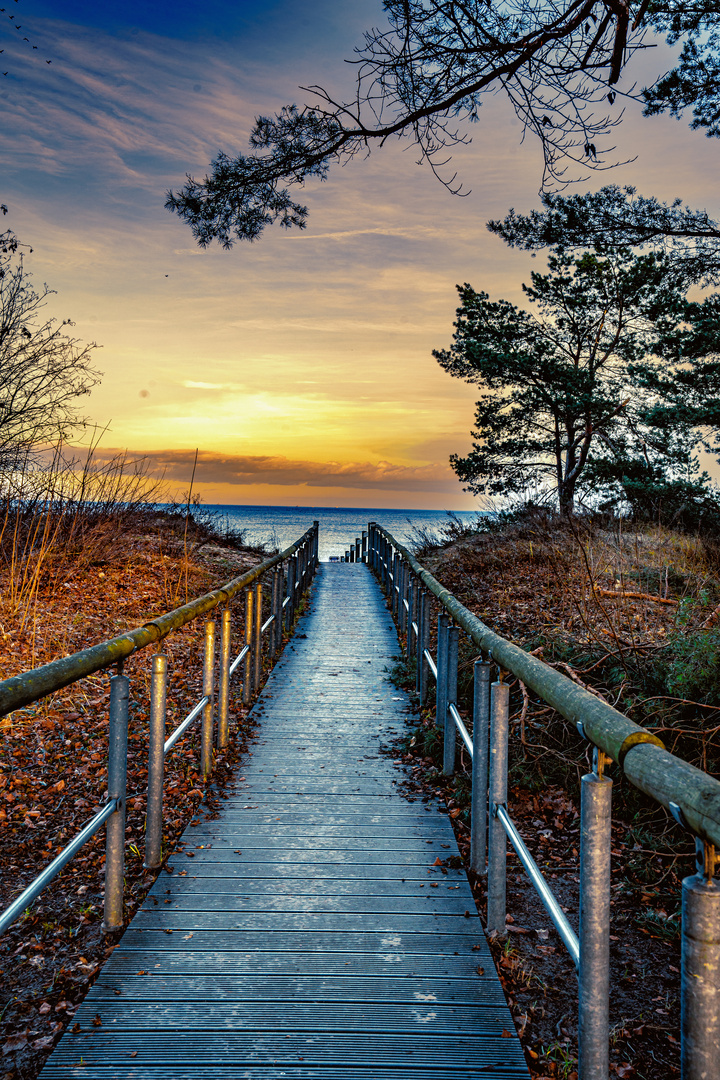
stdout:
{"type": "Polygon", "coordinates": [[[490,687],[490,782],[488,799],[488,933],[505,933],[507,840],[497,806],[507,802],[507,728],[510,688],[490,687]]]}

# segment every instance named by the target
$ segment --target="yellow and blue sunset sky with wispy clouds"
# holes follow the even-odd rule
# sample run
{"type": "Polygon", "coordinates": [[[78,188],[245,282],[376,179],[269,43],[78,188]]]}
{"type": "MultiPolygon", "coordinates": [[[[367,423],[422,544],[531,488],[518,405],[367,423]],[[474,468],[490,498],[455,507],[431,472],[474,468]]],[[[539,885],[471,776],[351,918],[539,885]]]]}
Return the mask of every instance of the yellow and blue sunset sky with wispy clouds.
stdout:
{"type": "MultiPolygon", "coordinates": [[[[208,502],[474,509],[448,456],[468,449],[476,394],[431,351],[450,342],[456,283],[517,301],[540,264],[485,228],[538,205],[540,151],[505,103],[456,153],[467,198],[399,141],[308,185],[304,232],[201,251],[166,189],[247,150],[253,118],[302,102],[299,84],[342,95],[379,0],[5,6],[4,224],[56,289],[51,313],[103,346],[86,401],[103,446],[147,455],[174,491],[198,447],[208,502]]],[[[720,214],[717,143],[633,104],[616,143],[637,160],[575,190],[634,184],[720,214]]]]}

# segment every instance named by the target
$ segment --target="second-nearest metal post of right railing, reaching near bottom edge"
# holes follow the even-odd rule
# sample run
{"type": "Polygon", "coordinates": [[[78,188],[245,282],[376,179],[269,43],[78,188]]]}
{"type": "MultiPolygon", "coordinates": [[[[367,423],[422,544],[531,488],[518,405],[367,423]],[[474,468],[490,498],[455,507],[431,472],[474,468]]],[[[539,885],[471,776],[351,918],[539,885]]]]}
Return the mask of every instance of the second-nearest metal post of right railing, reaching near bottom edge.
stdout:
{"type": "MultiPolygon", "coordinates": [[[[596,759],[599,754],[596,751],[596,759]]],[[[580,970],[578,1074],[607,1080],[610,1064],[610,825],[612,781],[580,783],[580,970]]]]}

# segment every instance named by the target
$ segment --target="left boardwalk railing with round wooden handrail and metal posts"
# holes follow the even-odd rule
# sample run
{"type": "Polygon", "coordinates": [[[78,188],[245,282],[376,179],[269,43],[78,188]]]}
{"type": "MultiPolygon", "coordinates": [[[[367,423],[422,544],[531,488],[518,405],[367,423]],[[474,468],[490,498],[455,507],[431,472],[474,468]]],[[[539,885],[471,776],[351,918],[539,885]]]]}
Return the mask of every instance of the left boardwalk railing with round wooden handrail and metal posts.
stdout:
{"type": "Polygon", "coordinates": [[[123,661],[140,649],[157,643],[162,644],[173,631],[186,626],[201,616],[218,608],[222,609],[219,663],[216,665],[216,625],[214,620],[208,620],[205,624],[203,694],[167,740],[165,740],[167,657],[163,652],[155,652],[152,657],[145,866],[158,867],[162,861],[165,757],[194,721],[202,717],[201,771],[205,779],[209,777],[213,771],[216,741],[218,748],[223,748],[228,744],[230,678],[242,664],[244,665],[243,701],[248,703],[258,692],[262,674],[263,640],[267,643],[267,653],[272,660],[282,646],[283,627],[289,631],[293,626],[300,599],[315,573],[318,553],[317,529],[318,523],[314,522],[313,527],[285,551],[266,559],[241,577],[233,578],[219,589],[159,616],[144,626],[0,683],[0,716],[6,716],[95,672],[117,667],[117,674],[110,679],[108,800],[42,874],[0,915],[0,933],[23,914],[106,822],[104,927],[106,930],[122,927],[130,703],[130,679],[122,674],[123,661]],[[284,564],[287,564],[286,572],[283,569],[284,564]],[[262,589],[263,579],[267,579],[269,573],[272,575],[270,616],[263,622],[262,589]],[[230,604],[243,592],[245,643],[235,659],[231,661],[230,604]],[[217,693],[216,666],[218,667],[217,693]]]}

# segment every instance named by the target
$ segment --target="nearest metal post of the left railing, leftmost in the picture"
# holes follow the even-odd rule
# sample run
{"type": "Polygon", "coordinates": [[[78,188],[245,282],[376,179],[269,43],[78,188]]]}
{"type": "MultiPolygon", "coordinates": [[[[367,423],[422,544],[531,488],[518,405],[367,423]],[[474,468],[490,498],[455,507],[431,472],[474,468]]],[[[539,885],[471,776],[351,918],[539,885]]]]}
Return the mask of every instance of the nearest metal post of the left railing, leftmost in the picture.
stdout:
{"type": "Polygon", "coordinates": [[[108,818],[105,837],[105,910],[103,929],[119,930],[123,915],[125,872],[125,794],[127,788],[127,718],[130,679],[110,679],[110,727],[108,731],[108,798],[117,799],[116,812],[108,818]]]}

